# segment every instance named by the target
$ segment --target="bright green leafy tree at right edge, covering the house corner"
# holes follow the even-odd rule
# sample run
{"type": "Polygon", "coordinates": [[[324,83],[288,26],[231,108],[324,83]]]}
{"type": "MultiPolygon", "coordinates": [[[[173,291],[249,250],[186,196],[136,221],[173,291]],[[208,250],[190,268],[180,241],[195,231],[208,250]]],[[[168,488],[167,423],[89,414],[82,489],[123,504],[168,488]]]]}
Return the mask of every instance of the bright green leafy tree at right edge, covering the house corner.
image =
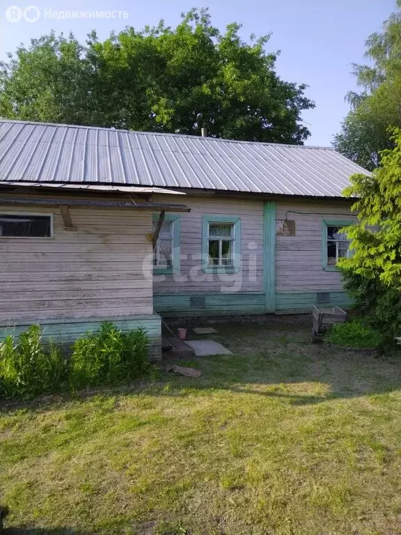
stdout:
{"type": "Polygon", "coordinates": [[[347,196],[359,199],[359,222],[347,227],[354,254],[342,258],[345,288],[386,342],[401,335],[401,130],[372,176],[354,175],[347,196]]]}

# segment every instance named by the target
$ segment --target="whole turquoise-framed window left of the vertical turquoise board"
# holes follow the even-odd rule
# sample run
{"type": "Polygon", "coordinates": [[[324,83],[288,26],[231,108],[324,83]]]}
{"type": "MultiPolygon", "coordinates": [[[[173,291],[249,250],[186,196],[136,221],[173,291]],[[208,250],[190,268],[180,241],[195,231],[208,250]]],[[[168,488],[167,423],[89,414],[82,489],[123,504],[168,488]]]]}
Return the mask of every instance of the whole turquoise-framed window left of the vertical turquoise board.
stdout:
{"type": "Polygon", "coordinates": [[[239,217],[203,216],[203,271],[239,271],[239,217]]]}

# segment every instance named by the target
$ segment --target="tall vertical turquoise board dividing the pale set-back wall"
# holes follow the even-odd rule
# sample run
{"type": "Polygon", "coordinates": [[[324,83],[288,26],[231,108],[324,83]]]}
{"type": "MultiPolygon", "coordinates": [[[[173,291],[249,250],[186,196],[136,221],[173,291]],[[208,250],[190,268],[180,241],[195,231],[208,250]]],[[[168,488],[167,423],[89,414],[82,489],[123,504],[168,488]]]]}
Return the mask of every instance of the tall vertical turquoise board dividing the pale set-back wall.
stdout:
{"type": "Polygon", "coordinates": [[[276,311],[276,203],[263,206],[263,287],[265,313],[276,311]]]}

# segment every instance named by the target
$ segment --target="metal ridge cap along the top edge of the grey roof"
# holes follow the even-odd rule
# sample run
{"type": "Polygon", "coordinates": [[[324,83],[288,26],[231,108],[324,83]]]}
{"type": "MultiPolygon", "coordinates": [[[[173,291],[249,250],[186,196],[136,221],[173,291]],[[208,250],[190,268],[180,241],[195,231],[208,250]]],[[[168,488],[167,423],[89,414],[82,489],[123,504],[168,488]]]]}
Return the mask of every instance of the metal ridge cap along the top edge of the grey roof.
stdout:
{"type": "Polygon", "coordinates": [[[143,130],[127,130],[125,128],[104,127],[104,126],[88,126],[88,125],[69,125],[67,123],[42,123],[40,121],[19,121],[18,119],[0,118],[0,123],[17,123],[23,125],[39,125],[39,126],[54,126],[67,128],[85,128],[90,130],[106,130],[107,132],[127,132],[128,134],[139,134],[144,136],[168,136],[168,137],[184,137],[186,139],[199,139],[201,141],[218,141],[220,143],[238,143],[238,144],[255,144],[263,146],[280,146],[288,148],[305,148],[317,150],[335,150],[333,147],[314,146],[314,145],[295,145],[287,143],[272,143],[269,141],[246,141],[244,139],[227,139],[222,137],[203,137],[194,134],[178,134],[175,132],[147,132],[143,130]]]}

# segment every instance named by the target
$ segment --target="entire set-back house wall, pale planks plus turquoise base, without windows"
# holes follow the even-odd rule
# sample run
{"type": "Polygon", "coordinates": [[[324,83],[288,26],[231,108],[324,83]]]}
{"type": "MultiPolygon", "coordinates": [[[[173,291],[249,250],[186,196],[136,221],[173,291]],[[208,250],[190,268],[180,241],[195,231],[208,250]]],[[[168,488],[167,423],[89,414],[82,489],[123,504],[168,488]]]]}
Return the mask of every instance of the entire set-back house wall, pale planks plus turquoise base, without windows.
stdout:
{"type": "MultiPolygon", "coordinates": [[[[265,263],[272,260],[274,264],[265,266],[266,272],[272,273],[269,288],[265,290],[263,254],[267,249],[266,235],[269,231],[269,226],[265,224],[264,237],[265,199],[251,196],[187,196],[186,203],[192,210],[181,216],[180,273],[155,277],[155,310],[162,316],[229,316],[269,311],[297,313],[310,311],[313,304],[321,304],[320,300],[326,300],[326,304],[330,305],[349,307],[351,301],[343,291],[339,272],[323,269],[322,223],[325,219],[356,219],[350,210],[352,203],[332,199],[275,201],[275,253],[265,254],[265,263]],[[242,265],[238,274],[226,276],[230,284],[222,284],[219,276],[205,274],[200,268],[202,217],[210,214],[241,217],[242,265]],[[294,235],[281,235],[279,228],[285,219],[295,222],[294,235]],[[251,270],[250,252],[255,258],[251,270]],[[196,265],[196,276],[191,277],[191,270],[196,265]],[[253,281],[250,282],[250,279],[253,281]],[[276,299],[274,309],[272,305],[267,306],[267,290],[270,292],[269,303],[274,306],[274,297],[276,299]]],[[[269,203],[269,206],[273,204],[269,203]]],[[[266,212],[265,208],[265,216],[266,212]]]]}

